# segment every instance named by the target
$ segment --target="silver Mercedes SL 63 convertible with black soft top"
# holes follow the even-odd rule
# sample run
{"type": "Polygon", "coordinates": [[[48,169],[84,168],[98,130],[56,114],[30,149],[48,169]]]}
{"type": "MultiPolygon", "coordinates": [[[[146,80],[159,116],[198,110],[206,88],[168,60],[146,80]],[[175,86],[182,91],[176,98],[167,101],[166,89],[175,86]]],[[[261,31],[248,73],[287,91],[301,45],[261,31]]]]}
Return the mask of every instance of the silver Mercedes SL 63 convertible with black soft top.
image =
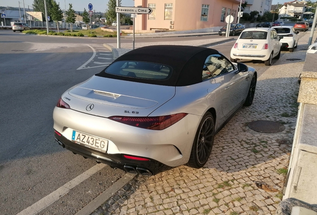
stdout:
{"type": "Polygon", "coordinates": [[[255,69],[214,49],[138,48],[61,96],[53,112],[55,140],[131,173],[200,168],[215,133],[252,104],[256,82],[255,69]]]}

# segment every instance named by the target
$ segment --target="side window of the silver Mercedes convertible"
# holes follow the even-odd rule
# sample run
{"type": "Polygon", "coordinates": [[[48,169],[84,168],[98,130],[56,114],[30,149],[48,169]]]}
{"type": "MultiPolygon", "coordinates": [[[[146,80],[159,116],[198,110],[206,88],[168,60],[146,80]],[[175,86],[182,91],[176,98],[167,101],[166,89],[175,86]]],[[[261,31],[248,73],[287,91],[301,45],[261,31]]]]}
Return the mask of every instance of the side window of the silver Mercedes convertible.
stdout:
{"type": "Polygon", "coordinates": [[[202,81],[221,76],[235,70],[230,61],[220,54],[209,55],[202,70],[202,81]]]}

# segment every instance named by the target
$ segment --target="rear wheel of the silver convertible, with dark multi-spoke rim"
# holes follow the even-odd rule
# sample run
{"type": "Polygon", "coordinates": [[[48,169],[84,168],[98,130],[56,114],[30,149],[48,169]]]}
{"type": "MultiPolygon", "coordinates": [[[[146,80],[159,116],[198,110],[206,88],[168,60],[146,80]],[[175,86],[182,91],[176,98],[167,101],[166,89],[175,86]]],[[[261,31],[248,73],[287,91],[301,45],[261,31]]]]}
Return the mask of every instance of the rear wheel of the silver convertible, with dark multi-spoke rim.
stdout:
{"type": "Polygon", "coordinates": [[[201,168],[205,165],[211,153],[214,136],[215,121],[212,114],[206,112],[199,123],[187,166],[201,168]]]}

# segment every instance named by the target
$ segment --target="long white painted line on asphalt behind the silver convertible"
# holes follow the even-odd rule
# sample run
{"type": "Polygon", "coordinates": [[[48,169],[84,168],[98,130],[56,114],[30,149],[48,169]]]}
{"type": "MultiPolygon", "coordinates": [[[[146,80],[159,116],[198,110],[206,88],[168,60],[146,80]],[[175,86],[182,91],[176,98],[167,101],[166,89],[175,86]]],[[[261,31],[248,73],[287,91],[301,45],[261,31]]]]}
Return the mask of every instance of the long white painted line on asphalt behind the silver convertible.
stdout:
{"type": "Polygon", "coordinates": [[[48,206],[50,206],[51,204],[65,196],[71,189],[73,189],[74,187],[76,187],[77,185],[79,185],[80,183],[82,183],[98,171],[102,170],[105,166],[106,164],[102,163],[93,166],[92,168],[80,174],[73,180],[64,184],[62,187],[58,188],[54,192],[48,194],[43,199],[37,201],[27,209],[24,209],[17,215],[36,215],[37,213],[41,212],[42,210],[44,210],[45,208],[47,208],[48,206]]]}

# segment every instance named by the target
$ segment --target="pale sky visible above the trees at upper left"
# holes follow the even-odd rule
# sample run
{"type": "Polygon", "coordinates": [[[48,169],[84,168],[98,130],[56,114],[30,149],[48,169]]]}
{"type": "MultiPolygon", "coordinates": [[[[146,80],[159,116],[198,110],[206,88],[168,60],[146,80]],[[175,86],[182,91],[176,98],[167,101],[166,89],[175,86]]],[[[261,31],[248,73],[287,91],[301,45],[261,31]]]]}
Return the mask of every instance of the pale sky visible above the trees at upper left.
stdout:
{"type": "MultiPolygon", "coordinates": [[[[18,7],[20,1],[20,7],[23,7],[23,0],[0,0],[0,6],[12,6],[12,7],[18,7]]],[[[93,10],[96,10],[96,12],[105,12],[108,8],[108,0],[56,0],[56,2],[59,2],[59,6],[61,9],[65,9],[65,1],[66,1],[66,10],[69,7],[69,3],[73,5],[73,9],[75,11],[83,11],[84,8],[88,10],[88,4],[92,3],[93,10]]],[[[24,5],[27,11],[27,6],[29,5],[30,8],[32,8],[33,0],[24,0],[24,5]]],[[[122,0],[121,1],[122,6],[134,6],[134,0],[122,0]]]]}

